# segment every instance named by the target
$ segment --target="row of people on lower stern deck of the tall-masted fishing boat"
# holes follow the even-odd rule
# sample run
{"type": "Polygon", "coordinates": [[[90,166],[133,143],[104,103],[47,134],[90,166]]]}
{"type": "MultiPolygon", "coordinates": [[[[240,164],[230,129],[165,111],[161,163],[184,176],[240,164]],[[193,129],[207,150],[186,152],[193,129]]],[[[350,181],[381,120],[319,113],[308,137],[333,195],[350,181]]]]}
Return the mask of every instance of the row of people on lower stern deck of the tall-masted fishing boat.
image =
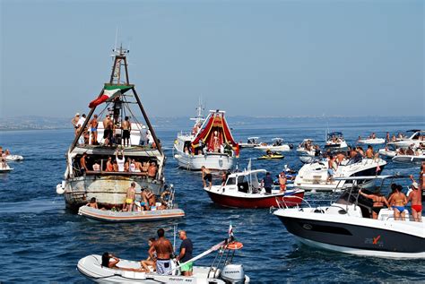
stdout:
{"type": "Polygon", "coordinates": [[[104,173],[134,173],[140,176],[147,176],[155,179],[158,172],[156,161],[142,158],[131,158],[124,155],[124,151],[116,151],[115,159],[108,157],[107,159],[94,160],[89,162],[87,153],[83,153],[77,164],[80,168],[79,174],[86,175],[88,173],[96,174],[104,173]],[[106,161],[106,162],[105,162],[106,161]]]}

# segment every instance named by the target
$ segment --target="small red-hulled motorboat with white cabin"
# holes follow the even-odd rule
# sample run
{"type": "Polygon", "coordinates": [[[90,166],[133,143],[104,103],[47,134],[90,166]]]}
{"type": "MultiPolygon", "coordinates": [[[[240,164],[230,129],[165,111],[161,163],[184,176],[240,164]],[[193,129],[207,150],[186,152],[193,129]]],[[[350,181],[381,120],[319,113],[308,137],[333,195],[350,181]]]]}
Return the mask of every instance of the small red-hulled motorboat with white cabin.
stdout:
{"type": "Polygon", "coordinates": [[[303,190],[287,189],[285,193],[280,193],[279,189],[273,189],[272,194],[265,193],[257,176],[265,173],[265,169],[236,172],[228,176],[224,185],[212,185],[211,188],[207,186],[204,191],[212,202],[231,208],[270,208],[276,207],[277,202],[295,206],[301,202],[303,190]]]}

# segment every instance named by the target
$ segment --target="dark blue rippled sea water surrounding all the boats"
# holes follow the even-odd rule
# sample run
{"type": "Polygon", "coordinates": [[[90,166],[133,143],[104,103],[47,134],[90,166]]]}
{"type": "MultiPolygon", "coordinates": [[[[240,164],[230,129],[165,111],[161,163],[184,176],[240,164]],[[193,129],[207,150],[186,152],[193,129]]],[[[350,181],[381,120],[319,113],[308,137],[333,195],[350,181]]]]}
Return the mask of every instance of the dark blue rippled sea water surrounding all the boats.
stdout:
{"type": "MultiPolygon", "coordinates": [[[[375,119],[334,123],[330,130],[342,131],[348,142],[361,135],[377,133],[385,138],[411,128],[423,128],[423,119],[388,123],[375,119]]],[[[304,138],[323,143],[327,125],[291,123],[261,127],[233,127],[238,141],[260,136],[262,141],[282,137],[296,146],[304,138]]],[[[235,237],[244,244],[235,257],[243,263],[253,283],[282,282],[394,282],[425,281],[425,261],[389,260],[339,254],[300,245],[269,210],[225,209],[214,205],[202,189],[199,172],[177,168],[172,145],[180,129],[157,130],[167,156],[165,175],[176,188],[176,202],[186,211],[178,221],[194,243],[194,255],[204,252],[227,237],[230,223],[235,237]]],[[[186,129],[184,129],[186,130],[186,129]]],[[[74,131],[13,131],[0,133],[0,145],[24,156],[23,162],[10,163],[12,173],[0,174],[0,281],[4,282],[87,282],[76,271],[80,258],[88,254],[110,252],[119,257],[142,260],[147,256],[147,240],[158,228],[166,229],[173,242],[174,221],[139,224],[93,223],[65,210],[63,196],[56,185],[65,172],[65,152],[74,131]]],[[[377,151],[377,147],[375,149],[377,151]]],[[[273,176],[285,164],[302,166],[295,151],[284,152],[282,160],[256,160],[261,151],[241,151],[239,168],[266,168],[273,176]]],[[[399,172],[418,176],[419,167],[388,161],[383,174],[399,172]]],[[[220,177],[214,182],[220,183],[220,177]]],[[[314,196],[313,196],[314,197],[314,196]]],[[[321,196],[323,198],[323,196],[321,196]]],[[[310,197],[311,198],[311,197],[310,197]]],[[[177,240],[176,245],[180,244],[177,240]]],[[[196,262],[210,265],[213,255],[196,262]]]]}

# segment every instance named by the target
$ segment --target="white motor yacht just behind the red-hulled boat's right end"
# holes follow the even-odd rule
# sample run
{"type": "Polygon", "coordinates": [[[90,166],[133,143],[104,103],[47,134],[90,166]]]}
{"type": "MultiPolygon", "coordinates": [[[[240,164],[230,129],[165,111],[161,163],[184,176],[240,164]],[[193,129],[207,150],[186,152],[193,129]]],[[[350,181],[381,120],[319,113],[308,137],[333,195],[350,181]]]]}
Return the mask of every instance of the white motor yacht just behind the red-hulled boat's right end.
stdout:
{"type": "Polygon", "coordinates": [[[346,159],[334,171],[334,180],[327,182],[328,164],[326,159],[313,161],[299,169],[295,177],[294,186],[314,192],[340,191],[346,186],[344,181],[337,181],[337,177],[349,176],[378,176],[386,166],[384,159],[346,159]]]}

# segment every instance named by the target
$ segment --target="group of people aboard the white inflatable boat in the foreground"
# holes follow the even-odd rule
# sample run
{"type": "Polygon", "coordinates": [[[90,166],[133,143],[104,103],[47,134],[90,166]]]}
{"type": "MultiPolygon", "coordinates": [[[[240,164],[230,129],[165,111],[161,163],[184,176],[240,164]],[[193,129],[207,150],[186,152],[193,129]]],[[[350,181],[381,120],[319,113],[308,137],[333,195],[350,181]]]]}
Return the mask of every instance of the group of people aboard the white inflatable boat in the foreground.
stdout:
{"type": "Polygon", "coordinates": [[[140,268],[128,268],[119,265],[120,259],[108,252],[102,254],[101,266],[109,269],[119,269],[121,271],[134,272],[156,272],[159,275],[170,275],[173,271],[172,259],[178,262],[178,269],[183,276],[193,275],[193,259],[194,245],[192,240],[187,237],[184,230],[178,232],[178,237],[181,240],[179,254],[174,253],[173,245],[167,237],[165,230],[159,228],[157,230],[158,238],[151,237],[148,240],[148,257],[140,261],[140,268]]]}

